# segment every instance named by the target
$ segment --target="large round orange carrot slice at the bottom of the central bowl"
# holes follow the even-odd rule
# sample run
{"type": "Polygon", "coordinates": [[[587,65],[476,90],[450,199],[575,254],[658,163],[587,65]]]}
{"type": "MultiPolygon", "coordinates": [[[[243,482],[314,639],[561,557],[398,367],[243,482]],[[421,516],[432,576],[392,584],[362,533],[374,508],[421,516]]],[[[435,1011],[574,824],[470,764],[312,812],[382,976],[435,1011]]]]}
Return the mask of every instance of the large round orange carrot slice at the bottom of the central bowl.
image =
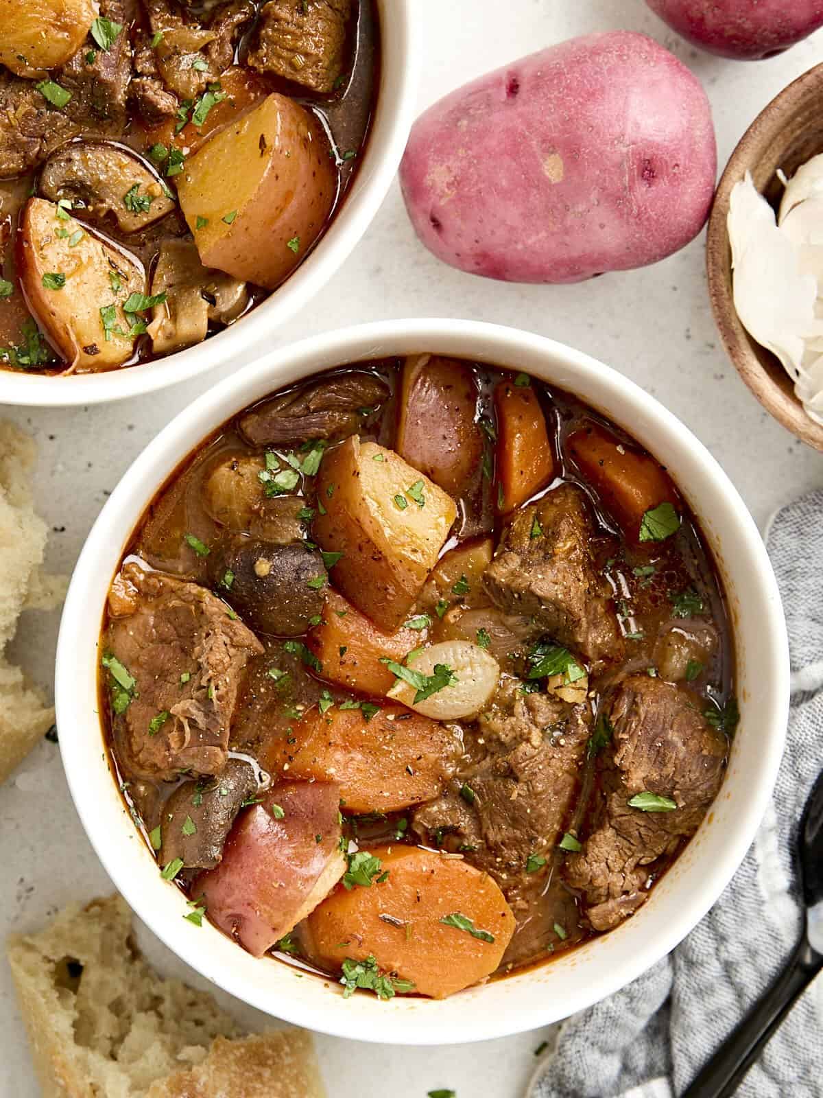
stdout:
{"type": "Polygon", "coordinates": [[[416,991],[433,999],[497,968],[515,916],[488,874],[419,847],[379,847],[370,853],[388,872],[382,884],[350,892],[338,886],[304,923],[319,964],[338,968],[347,957],[374,956],[381,971],[412,981],[416,991]]]}

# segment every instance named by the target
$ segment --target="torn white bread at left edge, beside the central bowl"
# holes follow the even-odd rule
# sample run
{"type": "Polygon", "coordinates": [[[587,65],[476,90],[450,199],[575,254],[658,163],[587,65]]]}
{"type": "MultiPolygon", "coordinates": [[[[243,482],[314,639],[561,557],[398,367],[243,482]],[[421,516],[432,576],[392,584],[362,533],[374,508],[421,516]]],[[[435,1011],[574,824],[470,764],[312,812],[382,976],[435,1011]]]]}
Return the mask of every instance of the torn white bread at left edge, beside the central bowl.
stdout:
{"type": "Polygon", "coordinates": [[[3,656],[23,609],[52,609],[66,581],[41,571],[46,524],[34,511],[34,441],[0,422],[0,782],[54,724],[54,708],[3,656]]]}

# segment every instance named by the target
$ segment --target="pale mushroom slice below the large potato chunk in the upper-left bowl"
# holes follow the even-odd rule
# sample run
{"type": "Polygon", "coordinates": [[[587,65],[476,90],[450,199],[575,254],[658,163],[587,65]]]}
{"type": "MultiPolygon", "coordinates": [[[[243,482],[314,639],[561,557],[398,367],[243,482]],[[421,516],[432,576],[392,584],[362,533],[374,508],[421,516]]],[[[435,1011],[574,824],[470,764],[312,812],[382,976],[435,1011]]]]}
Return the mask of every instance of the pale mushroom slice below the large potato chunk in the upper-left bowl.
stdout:
{"type": "Polygon", "coordinates": [[[191,240],[164,240],[151,293],[166,293],[148,326],[156,355],[202,343],[208,322],[230,324],[248,305],[246,283],[200,261],[191,240]]]}

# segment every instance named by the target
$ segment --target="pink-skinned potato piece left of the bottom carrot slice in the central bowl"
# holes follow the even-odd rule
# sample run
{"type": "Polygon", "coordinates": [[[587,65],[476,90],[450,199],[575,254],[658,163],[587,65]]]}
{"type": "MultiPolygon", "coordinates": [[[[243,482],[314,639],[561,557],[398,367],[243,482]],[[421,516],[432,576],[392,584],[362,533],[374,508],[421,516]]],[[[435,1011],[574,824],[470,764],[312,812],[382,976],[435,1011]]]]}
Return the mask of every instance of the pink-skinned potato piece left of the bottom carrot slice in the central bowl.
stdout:
{"type": "Polygon", "coordinates": [[[255,956],[288,934],[346,872],[339,786],[280,782],[235,820],[223,861],[194,881],[208,917],[255,956]],[[319,836],[319,839],[317,838],[319,836]]]}

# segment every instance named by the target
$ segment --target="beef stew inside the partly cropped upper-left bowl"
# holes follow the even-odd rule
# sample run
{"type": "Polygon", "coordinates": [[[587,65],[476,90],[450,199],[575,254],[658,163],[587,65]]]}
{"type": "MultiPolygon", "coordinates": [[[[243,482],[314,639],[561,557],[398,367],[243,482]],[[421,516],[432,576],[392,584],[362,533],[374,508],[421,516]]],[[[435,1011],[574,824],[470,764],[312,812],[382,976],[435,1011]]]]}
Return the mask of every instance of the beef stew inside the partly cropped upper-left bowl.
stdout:
{"type": "Polygon", "coordinates": [[[0,368],[115,370],[237,323],[312,251],[368,138],[374,0],[97,7],[48,0],[36,34],[4,9],[0,368]]]}

